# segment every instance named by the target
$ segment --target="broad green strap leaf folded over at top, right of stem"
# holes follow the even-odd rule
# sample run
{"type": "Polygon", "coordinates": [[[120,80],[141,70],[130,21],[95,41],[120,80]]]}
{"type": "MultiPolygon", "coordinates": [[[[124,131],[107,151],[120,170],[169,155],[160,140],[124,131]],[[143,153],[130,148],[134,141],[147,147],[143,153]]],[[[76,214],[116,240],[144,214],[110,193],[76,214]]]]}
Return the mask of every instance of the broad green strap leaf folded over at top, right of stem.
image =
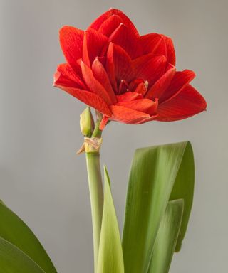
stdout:
{"type": "Polygon", "coordinates": [[[123,229],[125,273],[147,273],[168,201],[183,199],[180,245],[192,207],[194,159],[190,142],[135,151],[130,170],[123,229]]]}

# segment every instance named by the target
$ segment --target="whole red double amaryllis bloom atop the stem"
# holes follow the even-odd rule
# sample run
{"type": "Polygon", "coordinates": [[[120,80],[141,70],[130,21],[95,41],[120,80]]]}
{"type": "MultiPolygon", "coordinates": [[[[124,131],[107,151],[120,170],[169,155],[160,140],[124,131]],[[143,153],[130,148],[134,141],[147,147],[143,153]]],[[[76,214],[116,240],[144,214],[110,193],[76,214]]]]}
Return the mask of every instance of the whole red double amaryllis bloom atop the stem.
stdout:
{"type": "Polygon", "coordinates": [[[63,26],[60,43],[67,63],[58,65],[53,85],[102,113],[100,129],[109,119],[172,122],[207,106],[190,85],[195,73],[176,71],[172,40],[140,36],[122,11],[110,9],[86,31],[63,26]]]}

